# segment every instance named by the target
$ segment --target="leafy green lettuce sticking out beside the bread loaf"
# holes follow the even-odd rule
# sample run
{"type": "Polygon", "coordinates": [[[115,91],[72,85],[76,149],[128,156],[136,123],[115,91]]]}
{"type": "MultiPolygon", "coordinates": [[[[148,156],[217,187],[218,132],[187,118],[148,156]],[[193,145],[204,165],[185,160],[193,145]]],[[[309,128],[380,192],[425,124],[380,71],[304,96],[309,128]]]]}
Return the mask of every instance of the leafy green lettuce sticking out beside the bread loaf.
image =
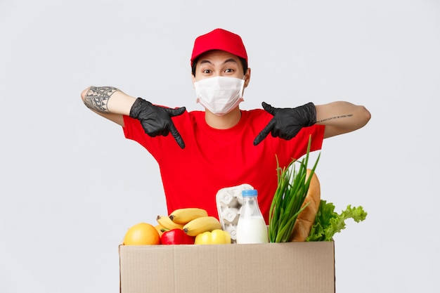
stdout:
{"type": "Polygon", "coordinates": [[[321,200],[315,223],[313,223],[306,241],[331,241],[336,233],[345,228],[345,220],[353,219],[358,223],[365,220],[366,217],[367,213],[361,206],[351,207],[348,205],[341,214],[337,214],[334,204],[321,200]]]}

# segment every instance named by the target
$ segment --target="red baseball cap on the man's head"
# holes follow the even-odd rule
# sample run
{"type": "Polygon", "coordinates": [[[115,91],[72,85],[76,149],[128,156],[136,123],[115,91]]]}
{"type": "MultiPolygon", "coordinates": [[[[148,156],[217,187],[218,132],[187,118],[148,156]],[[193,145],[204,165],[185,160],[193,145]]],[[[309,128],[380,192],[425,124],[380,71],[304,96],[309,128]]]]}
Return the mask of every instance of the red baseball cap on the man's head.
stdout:
{"type": "Polygon", "coordinates": [[[195,39],[193,54],[191,55],[191,66],[193,66],[193,60],[195,58],[198,58],[202,53],[210,50],[229,52],[235,56],[244,58],[247,63],[246,48],[241,37],[227,30],[215,29],[195,39]]]}

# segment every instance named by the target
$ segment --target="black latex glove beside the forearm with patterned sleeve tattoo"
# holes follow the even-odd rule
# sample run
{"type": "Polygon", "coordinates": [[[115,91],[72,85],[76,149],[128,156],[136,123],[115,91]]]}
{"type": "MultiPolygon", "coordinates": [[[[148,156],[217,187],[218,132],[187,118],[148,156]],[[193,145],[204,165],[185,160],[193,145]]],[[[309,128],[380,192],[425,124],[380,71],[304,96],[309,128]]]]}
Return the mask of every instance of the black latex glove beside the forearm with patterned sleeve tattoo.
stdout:
{"type": "Polygon", "coordinates": [[[167,136],[170,132],[177,144],[185,148],[185,143],[172,122],[171,117],[178,116],[185,112],[186,108],[177,109],[164,108],[153,105],[143,98],[136,98],[130,109],[130,117],[141,121],[145,134],[151,137],[167,136]]]}

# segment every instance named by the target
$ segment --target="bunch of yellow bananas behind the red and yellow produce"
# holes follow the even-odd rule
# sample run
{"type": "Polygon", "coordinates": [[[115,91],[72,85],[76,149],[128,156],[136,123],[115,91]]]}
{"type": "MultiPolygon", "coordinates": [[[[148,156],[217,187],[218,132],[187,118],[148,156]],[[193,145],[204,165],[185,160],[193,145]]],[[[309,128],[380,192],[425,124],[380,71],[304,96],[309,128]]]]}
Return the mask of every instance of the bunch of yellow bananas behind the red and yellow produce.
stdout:
{"type": "Polygon", "coordinates": [[[157,223],[164,230],[181,229],[187,235],[197,236],[200,233],[221,230],[221,223],[214,216],[208,216],[205,209],[188,207],[174,210],[169,216],[157,216],[157,223]]]}

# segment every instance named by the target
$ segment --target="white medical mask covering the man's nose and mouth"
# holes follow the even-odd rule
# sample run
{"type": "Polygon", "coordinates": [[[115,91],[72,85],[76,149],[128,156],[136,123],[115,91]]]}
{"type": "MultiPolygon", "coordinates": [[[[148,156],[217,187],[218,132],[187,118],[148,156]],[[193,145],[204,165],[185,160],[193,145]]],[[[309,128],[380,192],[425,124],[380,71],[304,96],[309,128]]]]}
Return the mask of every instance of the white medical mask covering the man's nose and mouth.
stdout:
{"type": "Polygon", "coordinates": [[[245,79],[235,77],[209,77],[194,83],[196,103],[215,115],[231,112],[243,101],[245,79]]]}

